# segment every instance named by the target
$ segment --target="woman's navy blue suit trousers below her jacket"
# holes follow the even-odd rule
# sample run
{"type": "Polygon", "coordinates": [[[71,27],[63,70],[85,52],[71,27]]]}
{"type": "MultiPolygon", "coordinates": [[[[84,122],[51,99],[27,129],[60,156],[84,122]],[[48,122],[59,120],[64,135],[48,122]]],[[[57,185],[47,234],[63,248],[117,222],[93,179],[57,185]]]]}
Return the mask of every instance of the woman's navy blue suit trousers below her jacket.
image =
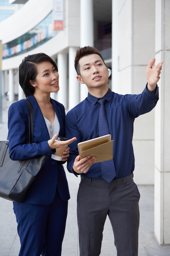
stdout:
{"type": "Polygon", "coordinates": [[[68,201],[57,192],[52,204],[13,202],[20,237],[19,256],[61,256],[68,201]]]}

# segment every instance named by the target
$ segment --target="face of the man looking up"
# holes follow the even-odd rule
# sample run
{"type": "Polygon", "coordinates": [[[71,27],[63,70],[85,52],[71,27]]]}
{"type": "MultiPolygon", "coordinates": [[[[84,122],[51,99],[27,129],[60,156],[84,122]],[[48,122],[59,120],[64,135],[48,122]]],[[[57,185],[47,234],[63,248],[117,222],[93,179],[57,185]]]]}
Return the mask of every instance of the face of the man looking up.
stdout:
{"type": "Polygon", "coordinates": [[[107,86],[108,69],[97,54],[91,54],[79,59],[79,83],[85,83],[87,88],[101,88],[107,86]]]}

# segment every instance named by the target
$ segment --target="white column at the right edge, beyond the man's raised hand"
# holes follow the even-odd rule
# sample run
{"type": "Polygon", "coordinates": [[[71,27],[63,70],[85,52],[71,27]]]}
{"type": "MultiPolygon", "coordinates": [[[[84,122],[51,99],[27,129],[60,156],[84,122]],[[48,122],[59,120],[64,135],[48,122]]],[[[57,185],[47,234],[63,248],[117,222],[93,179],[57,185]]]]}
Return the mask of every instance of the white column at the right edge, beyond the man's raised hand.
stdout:
{"type": "Polygon", "coordinates": [[[170,244],[170,1],[156,0],[155,52],[163,61],[155,109],[155,235],[170,244]]]}

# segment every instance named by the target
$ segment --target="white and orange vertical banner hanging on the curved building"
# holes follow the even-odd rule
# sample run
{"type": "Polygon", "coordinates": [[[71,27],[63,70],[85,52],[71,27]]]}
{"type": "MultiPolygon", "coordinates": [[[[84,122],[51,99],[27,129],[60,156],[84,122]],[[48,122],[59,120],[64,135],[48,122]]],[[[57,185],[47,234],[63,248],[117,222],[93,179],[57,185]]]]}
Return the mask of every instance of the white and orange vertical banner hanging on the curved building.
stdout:
{"type": "Polygon", "coordinates": [[[63,0],[54,0],[54,30],[63,30],[63,0]]]}

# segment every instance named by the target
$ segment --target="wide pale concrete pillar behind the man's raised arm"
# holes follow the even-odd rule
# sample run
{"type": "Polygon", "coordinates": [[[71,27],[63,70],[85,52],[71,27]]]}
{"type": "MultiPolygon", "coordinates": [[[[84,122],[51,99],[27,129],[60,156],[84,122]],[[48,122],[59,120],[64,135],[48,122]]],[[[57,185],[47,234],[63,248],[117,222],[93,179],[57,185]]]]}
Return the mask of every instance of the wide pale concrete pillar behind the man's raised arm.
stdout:
{"type": "MultiPolygon", "coordinates": [[[[155,57],[155,0],[113,0],[112,4],[112,89],[120,94],[138,94],[146,86],[146,67],[155,57]]],[[[154,114],[152,110],[134,123],[137,184],[154,184],[154,114]]]]}

